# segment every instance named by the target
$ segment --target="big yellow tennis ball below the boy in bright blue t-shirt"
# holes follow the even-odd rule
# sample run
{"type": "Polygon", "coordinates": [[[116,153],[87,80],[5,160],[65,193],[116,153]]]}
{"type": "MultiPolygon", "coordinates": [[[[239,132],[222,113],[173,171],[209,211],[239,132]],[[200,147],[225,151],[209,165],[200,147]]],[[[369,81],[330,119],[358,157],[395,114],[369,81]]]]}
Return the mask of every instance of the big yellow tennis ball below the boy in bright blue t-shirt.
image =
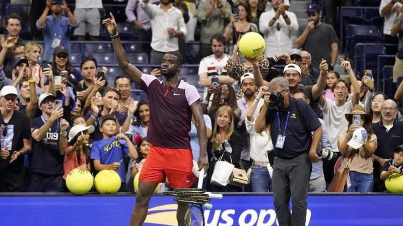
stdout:
{"type": "Polygon", "coordinates": [[[95,189],[100,194],[114,194],[121,185],[119,174],[114,170],[101,170],[95,176],[95,189]]]}

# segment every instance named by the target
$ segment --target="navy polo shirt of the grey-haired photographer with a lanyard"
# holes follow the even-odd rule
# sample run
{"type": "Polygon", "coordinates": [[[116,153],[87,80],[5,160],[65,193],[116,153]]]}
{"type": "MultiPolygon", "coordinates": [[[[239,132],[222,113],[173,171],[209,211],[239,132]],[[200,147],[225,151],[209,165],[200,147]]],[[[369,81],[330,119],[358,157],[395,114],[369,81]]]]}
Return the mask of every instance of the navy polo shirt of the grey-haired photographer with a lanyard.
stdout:
{"type": "MultiPolygon", "coordinates": [[[[288,111],[290,111],[289,122],[285,133],[283,149],[274,149],[276,156],[282,159],[293,159],[311,148],[312,135],[321,126],[315,112],[303,100],[290,98],[290,105],[279,109],[281,133],[284,134],[284,127],[288,111]]],[[[269,107],[266,115],[266,125],[270,124],[270,131],[273,145],[276,145],[279,135],[279,124],[277,120],[277,110],[269,107]]]]}

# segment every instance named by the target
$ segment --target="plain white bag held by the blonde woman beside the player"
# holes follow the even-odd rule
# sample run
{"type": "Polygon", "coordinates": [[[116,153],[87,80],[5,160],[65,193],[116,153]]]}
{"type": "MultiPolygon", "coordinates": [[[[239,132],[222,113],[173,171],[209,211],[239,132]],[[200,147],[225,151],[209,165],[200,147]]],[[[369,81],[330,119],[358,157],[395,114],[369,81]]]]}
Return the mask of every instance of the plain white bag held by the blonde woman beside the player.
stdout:
{"type": "MultiPolygon", "coordinates": [[[[234,165],[223,160],[224,152],[221,157],[218,159],[214,166],[213,175],[211,176],[210,183],[218,185],[218,186],[226,186],[229,182],[230,175],[232,174],[232,170],[234,169],[234,165]]],[[[230,156],[231,158],[231,156],[230,156]]]]}

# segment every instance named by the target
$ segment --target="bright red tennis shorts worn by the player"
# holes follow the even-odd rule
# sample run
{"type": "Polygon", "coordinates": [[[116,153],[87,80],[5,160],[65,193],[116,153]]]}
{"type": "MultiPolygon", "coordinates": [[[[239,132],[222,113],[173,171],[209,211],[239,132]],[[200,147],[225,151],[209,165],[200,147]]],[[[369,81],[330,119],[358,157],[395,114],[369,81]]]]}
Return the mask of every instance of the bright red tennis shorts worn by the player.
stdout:
{"type": "Polygon", "coordinates": [[[162,148],[150,144],[139,180],[164,183],[168,178],[172,188],[186,188],[195,180],[192,169],[193,154],[190,149],[162,148]]]}

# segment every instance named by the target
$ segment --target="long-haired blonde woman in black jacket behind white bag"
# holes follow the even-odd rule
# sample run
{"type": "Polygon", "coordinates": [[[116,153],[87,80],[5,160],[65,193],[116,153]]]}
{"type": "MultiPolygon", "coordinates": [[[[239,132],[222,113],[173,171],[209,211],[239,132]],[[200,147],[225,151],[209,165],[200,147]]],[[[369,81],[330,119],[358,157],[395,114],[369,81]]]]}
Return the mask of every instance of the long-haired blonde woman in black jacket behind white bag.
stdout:
{"type": "MultiPolygon", "coordinates": [[[[213,136],[208,144],[208,155],[210,159],[209,175],[213,174],[214,166],[223,155],[222,160],[232,162],[236,168],[240,168],[242,141],[241,135],[235,130],[233,110],[230,106],[221,106],[217,110],[214,123],[213,136]]],[[[241,187],[227,184],[226,186],[209,185],[210,191],[216,192],[237,192],[242,191],[241,187]]]]}

